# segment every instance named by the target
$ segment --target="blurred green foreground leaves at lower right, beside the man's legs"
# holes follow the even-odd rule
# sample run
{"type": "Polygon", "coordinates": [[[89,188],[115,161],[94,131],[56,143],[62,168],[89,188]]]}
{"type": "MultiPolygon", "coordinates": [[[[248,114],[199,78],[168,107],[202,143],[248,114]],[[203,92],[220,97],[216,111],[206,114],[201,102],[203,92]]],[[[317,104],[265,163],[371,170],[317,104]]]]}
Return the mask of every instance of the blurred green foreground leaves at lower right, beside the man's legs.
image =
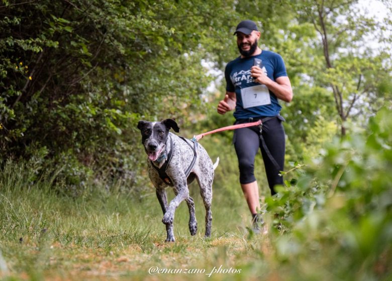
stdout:
{"type": "Polygon", "coordinates": [[[390,276],[391,117],[383,108],[368,131],[327,146],[298,180],[267,199],[268,210],[276,214],[274,224],[290,232],[276,247],[277,258],[298,265],[287,269],[291,274],[322,280],[329,279],[325,272],[341,280],[390,276]],[[309,269],[314,264],[310,256],[323,270],[309,269]]]}

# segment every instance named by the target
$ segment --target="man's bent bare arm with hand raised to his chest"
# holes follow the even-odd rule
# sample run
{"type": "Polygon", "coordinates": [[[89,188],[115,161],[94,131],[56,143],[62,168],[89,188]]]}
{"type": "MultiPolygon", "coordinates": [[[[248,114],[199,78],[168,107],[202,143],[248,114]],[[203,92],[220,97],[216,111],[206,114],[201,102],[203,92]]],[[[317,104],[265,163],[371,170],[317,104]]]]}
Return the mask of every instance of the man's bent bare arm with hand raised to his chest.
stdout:
{"type": "Polygon", "coordinates": [[[271,80],[258,66],[252,66],[251,75],[254,81],[267,86],[271,92],[275,94],[278,99],[285,102],[292,100],[292,88],[290,79],[287,76],[280,76],[275,81],[271,80]]]}

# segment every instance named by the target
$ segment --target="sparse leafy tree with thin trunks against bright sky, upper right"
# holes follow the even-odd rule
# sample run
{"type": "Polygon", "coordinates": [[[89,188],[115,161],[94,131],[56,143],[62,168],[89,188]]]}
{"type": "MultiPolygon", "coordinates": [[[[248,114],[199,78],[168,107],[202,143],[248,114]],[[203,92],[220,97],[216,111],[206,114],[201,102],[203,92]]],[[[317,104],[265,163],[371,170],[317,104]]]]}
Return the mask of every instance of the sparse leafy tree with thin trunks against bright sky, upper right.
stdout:
{"type": "Polygon", "coordinates": [[[301,11],[298,25],[313,26],[317,34],[304,42],[312,47],[300,61],[316,85],[328,88],[344,135],[346,121],[363,122],[381,107],[380,99],[390,100],[377,90],[390,76],[391,49],[379,43],[389,36],[378,33],[387,23],[361,10],[358,1],[298,1],[292,7],[301,11]]]}

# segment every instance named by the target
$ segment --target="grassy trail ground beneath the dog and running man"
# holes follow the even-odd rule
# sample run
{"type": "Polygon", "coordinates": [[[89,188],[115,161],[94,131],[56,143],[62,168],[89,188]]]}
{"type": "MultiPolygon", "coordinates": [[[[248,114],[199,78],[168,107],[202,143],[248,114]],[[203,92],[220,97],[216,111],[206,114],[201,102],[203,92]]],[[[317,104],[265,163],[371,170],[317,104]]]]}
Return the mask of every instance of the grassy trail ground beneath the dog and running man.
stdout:
{"type": "MultiPolygon", "coordinates": [[[[248,237],[250,216],[240,193],[215,191],[213,233],[206,239],[204,206],[198,186],[192,185],[198,233],[189,234],[183,202],[175,213],[176,242],[165,243],[163,214],[152,188],[135,198],[97,185],[73,198],[51,188],[50,177],[29,184],[32,172],[23,165],[6,165],[2,172],[4,280],[238,280],[274,274],[267,261],[268,236],[248,237]],[[172,272],[150,274],[150,268],[172,272]],[[217,272],[209,276],[214,268],[217,272]]],[[[168,196],[173,192],[168,190],[168,196]]]]}

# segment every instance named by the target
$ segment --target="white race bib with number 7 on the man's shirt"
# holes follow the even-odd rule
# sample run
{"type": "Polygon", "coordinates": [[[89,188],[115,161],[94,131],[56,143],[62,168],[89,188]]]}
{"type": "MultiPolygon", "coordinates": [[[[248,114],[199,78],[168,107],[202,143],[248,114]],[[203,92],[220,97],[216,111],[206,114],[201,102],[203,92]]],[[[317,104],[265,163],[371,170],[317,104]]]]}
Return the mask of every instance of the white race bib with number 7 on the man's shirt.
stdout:
{"type": "Polygon", "coordinates": [[[261,84],[241,89],[241,97],[244,108],[271,104],[269,90],[261,84]]]}

